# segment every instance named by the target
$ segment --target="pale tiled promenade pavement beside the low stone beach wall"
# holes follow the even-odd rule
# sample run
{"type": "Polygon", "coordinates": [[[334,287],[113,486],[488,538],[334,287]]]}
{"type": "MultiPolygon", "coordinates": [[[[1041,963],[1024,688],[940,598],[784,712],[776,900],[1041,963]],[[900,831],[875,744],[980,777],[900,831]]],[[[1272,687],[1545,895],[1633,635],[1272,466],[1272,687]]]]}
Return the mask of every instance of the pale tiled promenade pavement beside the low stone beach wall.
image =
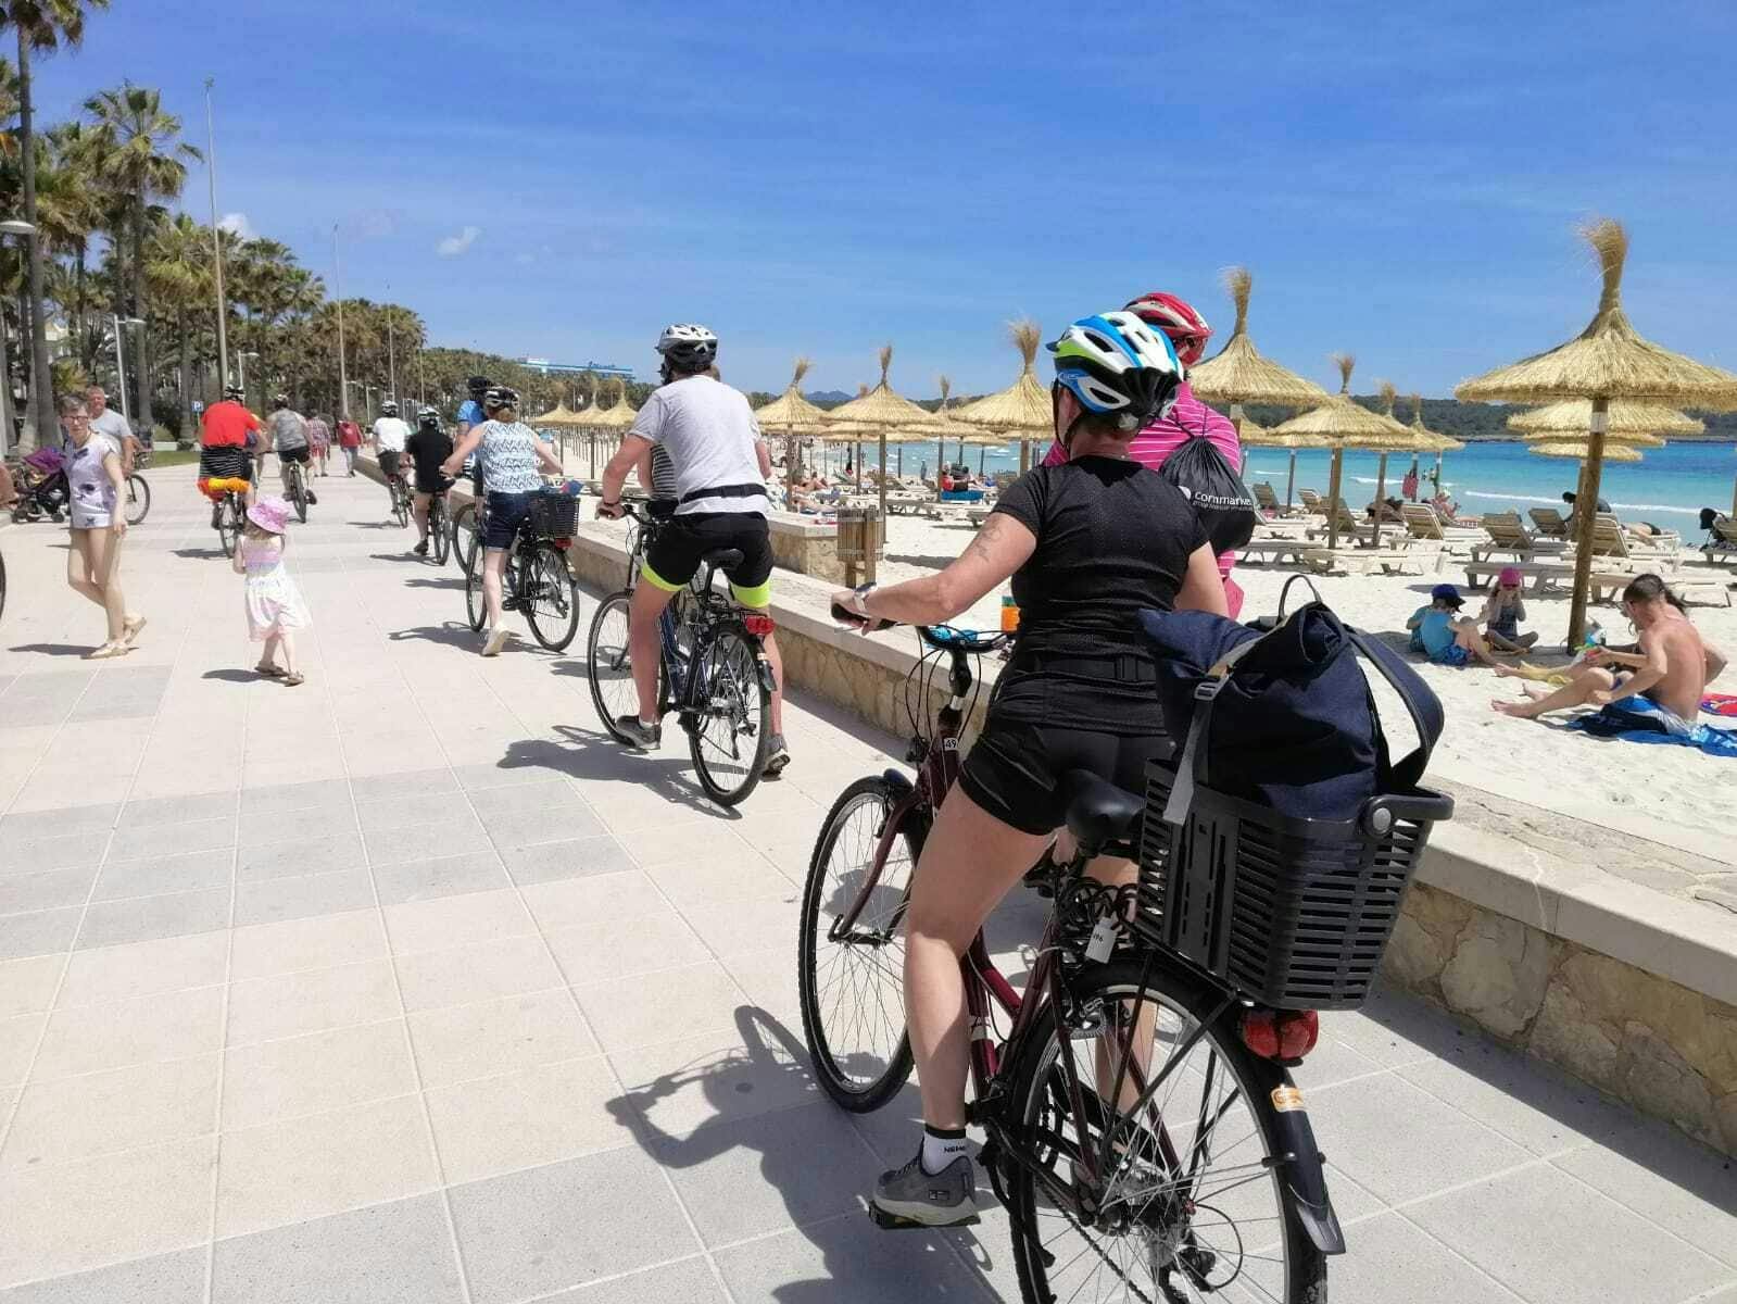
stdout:
{"type": "MultiPolygon", "coordinates": [[[[360,478],[292,536],[307,683],[257,680],[191,469],[151,480],[123,661],[64,534],[0,529],[0,1301],[1018,1299],[999,1212],[868,1224],[908,1099],[804,1071],[797,883],[889,739],[797,702],[789,777],[709,808],[578,659],[476,657],[360,478]]],[[[1728,1163],[1410,1003],[1325,1022],[1334,1301],[1737,1304],[1728,1163]]]]}

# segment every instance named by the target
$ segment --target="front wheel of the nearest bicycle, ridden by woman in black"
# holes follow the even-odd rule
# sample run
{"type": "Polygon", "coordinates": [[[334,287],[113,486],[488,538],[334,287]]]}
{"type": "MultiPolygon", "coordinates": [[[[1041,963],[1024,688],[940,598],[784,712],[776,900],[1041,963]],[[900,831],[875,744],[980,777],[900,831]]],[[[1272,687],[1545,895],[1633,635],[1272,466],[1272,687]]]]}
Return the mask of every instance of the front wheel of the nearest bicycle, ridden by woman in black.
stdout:
{"type": "Polygon", "coordinates": [[[886,861],[875,848],[896,802],[881,775],[858,779],[832,803],[802,887],[796,982],[815,1076],[841,1109],[863,1114],[910,1076],[905,1035],[905,899],[928,824],[908,815],[886,861]],[[848,934],[832,930],[868,888],[848,934]]]}

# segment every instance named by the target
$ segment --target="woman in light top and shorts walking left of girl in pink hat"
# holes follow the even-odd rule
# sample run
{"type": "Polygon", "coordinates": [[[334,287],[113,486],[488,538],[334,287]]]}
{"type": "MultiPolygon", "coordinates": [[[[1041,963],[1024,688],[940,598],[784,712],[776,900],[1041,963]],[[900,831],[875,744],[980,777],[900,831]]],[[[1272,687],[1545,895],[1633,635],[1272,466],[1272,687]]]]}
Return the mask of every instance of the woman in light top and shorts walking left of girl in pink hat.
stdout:
{"type": "Polygon", "coordinates": [[[66,555],[66,582],[108,615],[108,638],[85,659],[123,657],[144,629],[144,617],[127,614],[120,588],[120,544],[127,534],[127,513],[118,508],[127,480],[122,450],[106,435],[90,429],[83,398],[68,395],[61,400],[61,424],[73,445],[66,466],[73,539],[66,555]]]}

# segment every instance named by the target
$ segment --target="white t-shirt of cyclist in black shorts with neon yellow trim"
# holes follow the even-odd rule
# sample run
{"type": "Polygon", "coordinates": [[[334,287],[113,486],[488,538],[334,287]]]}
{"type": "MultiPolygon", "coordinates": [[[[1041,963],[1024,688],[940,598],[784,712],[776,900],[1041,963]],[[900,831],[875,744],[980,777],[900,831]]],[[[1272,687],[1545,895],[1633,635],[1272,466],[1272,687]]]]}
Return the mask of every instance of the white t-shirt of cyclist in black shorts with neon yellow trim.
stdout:
{"type": "Polygon", "coordinates": [[[664,449],[676,468],[677,516],[697,511],[757,511],[771,506],[759,469],[759,422],[738,389],[710,376],[688,376],[653,389],[631,431],[664,449]],[[757,485],[757,494],[693,497],[702,489],[757,485]]]}

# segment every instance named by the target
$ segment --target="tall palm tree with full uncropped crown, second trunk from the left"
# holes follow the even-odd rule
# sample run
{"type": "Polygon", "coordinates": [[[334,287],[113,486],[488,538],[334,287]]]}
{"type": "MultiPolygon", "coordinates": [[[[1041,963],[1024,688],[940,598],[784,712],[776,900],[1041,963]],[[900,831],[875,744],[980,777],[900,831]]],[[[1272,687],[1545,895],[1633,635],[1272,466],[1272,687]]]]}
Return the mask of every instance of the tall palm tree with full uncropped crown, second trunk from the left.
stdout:
{"type": "MultiPolygon", "coordinates": [[[[188,181],[188,160],[200,160],[205,155],[177,139],[181,118],[165,113],[162,96],[149,87],[122,82],[120,89],[102,90],[87,99],[85,111],[106,137],[99,165],[115,190],[127,195],[132,313],[144,316],[144,231],[151,200],[172,200],[181,195],[188,181]]],[[[141,332],[139,339],[135,376],[139,414],[149,424],[151,365],[144,334],[141,332]]]]}

